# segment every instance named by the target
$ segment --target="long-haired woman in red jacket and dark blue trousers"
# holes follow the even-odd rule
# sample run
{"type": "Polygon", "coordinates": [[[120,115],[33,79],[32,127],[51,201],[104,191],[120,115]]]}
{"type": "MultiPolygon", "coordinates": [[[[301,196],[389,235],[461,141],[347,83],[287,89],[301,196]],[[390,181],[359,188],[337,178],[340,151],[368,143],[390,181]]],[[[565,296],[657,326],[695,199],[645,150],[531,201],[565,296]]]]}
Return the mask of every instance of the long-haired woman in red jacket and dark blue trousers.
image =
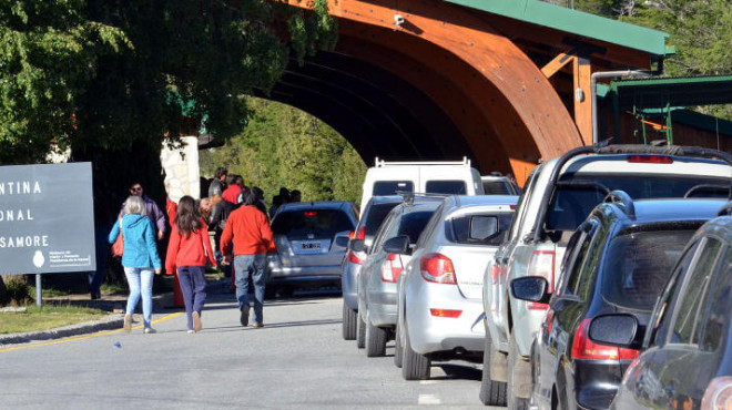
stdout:
{"type": "Polygon", "coordinates": [[[167,244],[165,270],[172,275],[177,266],[190,334],[201,331],[202,328],[201,309],[206,300],[206,260],[216,266],[206,223],[199,215],[195,201],[186,195],[177,204],[167,244]]]}

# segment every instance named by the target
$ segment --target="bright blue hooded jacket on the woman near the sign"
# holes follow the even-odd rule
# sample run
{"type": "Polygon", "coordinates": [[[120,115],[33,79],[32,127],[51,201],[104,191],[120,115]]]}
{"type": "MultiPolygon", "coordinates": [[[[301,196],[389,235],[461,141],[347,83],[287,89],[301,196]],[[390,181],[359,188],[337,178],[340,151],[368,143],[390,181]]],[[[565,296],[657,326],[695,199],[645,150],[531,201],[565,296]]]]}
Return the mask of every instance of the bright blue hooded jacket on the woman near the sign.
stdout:
{"type": "MultiPolygon", "coordinates": [[[[110,244],[120,235],[120,224],[112,226],[108,238],[110,244]]],[[[124,215],[122,217],[122,266],[130,268],[162,268],[157,245],[155,244],[155,228],[152,222],[143,215],[124,215]]]]}

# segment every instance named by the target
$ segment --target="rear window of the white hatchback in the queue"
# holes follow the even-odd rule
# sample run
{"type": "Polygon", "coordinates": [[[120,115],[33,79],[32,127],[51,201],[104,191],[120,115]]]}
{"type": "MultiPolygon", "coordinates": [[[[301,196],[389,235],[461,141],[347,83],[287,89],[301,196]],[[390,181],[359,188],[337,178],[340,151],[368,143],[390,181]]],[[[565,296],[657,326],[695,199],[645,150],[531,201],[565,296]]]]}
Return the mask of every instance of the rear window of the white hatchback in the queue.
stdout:
{"type": "Polygon", "coordinates": [[[509,213],[460,215],[446,222],[445,234],[447,240],[457,244],[499,246],[511,226],[512,215],[509,213]],[[488,236],[495,227],[498,228],[497,233],[488,236]]]}

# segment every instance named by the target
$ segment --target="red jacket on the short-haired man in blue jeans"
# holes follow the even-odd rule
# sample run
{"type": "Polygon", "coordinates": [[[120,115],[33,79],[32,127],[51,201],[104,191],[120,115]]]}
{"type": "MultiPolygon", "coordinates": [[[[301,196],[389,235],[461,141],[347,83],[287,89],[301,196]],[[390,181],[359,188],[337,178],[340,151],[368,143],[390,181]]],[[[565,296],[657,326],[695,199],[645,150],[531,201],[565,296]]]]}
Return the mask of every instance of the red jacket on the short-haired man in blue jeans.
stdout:
{"type": "Polygon", "coordinates": [[[232,243],[234,256],[266,253],[274,245],[266,215],[253,205],[244,205],[232,212],[221,234],[221,252],[224,255],[231,253],[232,243]]]}

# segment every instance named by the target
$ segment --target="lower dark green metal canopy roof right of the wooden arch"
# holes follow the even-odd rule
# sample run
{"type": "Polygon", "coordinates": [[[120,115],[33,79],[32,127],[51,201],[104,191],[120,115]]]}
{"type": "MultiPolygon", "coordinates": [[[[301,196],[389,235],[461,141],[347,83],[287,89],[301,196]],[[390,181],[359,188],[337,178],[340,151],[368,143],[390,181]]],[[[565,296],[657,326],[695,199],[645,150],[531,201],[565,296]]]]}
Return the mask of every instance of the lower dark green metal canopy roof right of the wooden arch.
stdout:
{"type": "Polygon", "coordinates": [[[619,80],[608,94],[617,96],[621,110],[730,104],[732,75],[619,80]]]}

